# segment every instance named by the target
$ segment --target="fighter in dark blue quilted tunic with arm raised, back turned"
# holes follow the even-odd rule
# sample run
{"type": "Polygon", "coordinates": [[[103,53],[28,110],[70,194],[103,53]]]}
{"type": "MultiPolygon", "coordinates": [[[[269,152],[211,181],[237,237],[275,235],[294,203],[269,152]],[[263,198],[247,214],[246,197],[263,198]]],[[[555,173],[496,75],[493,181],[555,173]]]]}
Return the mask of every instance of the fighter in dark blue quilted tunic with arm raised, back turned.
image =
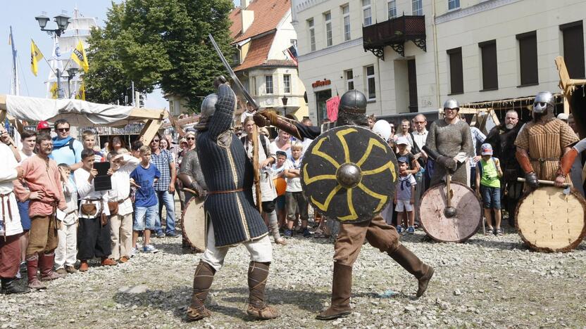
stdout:
{"type": "Polygon", "coordinates": [[[204,301],[213,276],[223,266],[230,246],[239,243],[247,247],[251,258],[247,314],[257,319],[276,318],[277,310],[265,304],[273,249],[252,198],[252,163],[232,131],[236,95],[223,77],[216,79],[214,85],[218,88],[218,100],[213,108],[201,113],[196,148],[208,187],[204,209],[211,222],[207,226],[206,251],[195,270],[187,318],[195,321],[211,316],[204,301]]]}

